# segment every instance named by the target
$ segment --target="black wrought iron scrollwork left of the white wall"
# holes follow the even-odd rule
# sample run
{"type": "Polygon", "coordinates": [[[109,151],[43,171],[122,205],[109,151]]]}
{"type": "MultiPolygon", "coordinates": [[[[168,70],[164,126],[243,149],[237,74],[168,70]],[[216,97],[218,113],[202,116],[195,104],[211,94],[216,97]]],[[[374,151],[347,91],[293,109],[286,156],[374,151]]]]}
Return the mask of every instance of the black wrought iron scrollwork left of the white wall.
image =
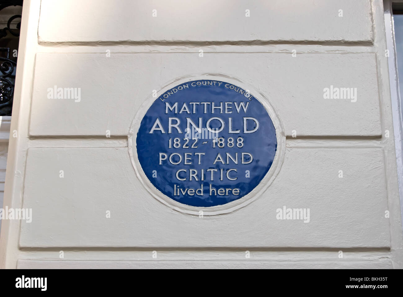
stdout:
{"type": "MultiPolygon", "coordinates": [[[[0,4],[1,10],[8,6],[22,6],[23,0],[3,0],[0,4]]],[[[8,33],[15,37],[20,36],[21,15],[16,14],[10,17],[7,27],[0,30],[0,38],[6,37],[8,33]],[[12,29],[11,25],[15,21],[20,20],[16,25],[16,29],[12,29]]],[[[10,48],[0,47],[0,51],[6,52],[6,57],[0,56],[0,115],[11,115],[12,100],[14,97],[15,70],[17,63],[10,60],[10,48]]]]}

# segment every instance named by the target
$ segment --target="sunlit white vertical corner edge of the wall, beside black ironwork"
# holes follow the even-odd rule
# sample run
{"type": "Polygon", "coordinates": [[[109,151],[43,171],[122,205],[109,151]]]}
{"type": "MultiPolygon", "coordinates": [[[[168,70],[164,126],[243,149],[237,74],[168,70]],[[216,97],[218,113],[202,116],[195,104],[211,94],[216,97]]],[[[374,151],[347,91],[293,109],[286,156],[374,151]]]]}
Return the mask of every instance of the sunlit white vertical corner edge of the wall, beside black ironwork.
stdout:
{"type": "MultiPolygon", "coordinates": [[[[21,31],[17,72],[12,106],[10,131],[16,130],[18,137],[11,137],[8,145],[6,180],[4,184],[3,205],[9,208],[21,207],[20,199],[13,199],[15,192],[19,193],[23,185],[23,177],[19,168],[23,168],[26,154],[28,125],[23,126],[20,118],[29,119],[29,101],[33,79],[35,52],[37,52],[37,21],[39,20],[40,0],[25,0],[21,17],[21,31]],[[32,8],[31,6],[34,6],[32,8]],[[36,22],[36,25],[35,25],[36,22]],[[35,29],[35,30],[32,30],[35,29]],[[30,31],[29,31],[30,30],[30,31]],[[27,50],[29,47],[29,50],[27,50]],[[21,144],[19,144],[21,142],[21,144]],[[18,148],[18,150],[17,150],[18,148]]],[[[18,220],[4,220],[0,233],[0,268],[16,268],[18,238],[20,222],[18,220]],[[14,232],[13,232],[14,231],[14,232]]]]}

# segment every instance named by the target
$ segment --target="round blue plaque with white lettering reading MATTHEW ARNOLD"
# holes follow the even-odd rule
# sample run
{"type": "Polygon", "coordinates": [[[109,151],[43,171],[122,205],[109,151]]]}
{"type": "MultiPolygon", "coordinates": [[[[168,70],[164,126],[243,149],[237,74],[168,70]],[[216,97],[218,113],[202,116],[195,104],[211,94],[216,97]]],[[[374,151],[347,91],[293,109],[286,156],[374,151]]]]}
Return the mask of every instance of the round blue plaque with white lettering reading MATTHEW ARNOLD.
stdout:
{"type": "Polygon", "coordinates": [[[156,99],[141,120],[136,149],[160,192],[210,207],[251,192],[270,169],[277,140],[266,108],[249,91],[193,80],[156,99]]]}

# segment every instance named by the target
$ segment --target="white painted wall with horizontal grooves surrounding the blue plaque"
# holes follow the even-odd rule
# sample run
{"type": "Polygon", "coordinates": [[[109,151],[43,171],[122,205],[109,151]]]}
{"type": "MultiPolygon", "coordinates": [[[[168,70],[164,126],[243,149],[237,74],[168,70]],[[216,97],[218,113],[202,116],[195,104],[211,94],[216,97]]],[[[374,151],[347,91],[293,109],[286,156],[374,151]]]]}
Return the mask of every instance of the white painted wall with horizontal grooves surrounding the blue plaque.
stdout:
{"type": "Polygon", "coordinates": [[[2,267],[403,268],[381,0],[27,0],[19,48],[4,206],[33,220],[2,222],[2,267]],[[284,144],[267,190],[199,218],[147,191],[127,135],[154,89],[205,75],[267,98],[284,144]],[[284,205],[310,223],[276,220],[284,205]]]}

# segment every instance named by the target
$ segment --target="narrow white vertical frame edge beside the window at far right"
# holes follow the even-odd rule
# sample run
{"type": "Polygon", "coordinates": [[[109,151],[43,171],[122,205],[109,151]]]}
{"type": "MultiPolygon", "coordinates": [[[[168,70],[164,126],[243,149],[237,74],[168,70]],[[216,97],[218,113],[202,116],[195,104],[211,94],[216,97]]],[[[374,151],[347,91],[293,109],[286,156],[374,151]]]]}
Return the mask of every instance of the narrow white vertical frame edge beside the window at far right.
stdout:
{"type": "MultiPolygon", "coordinates": [[[[389,50],[389,82],[391,86],[391,105],[393,116],[393,131],[395,134],[395,150],[397,163],[397,177],[399,181],[399,196],[400,196],[400,213],[403,227],[403,127],[401,114],[401,94],[399,92],[399,76],[397,70],[397,55],[395,44],[395,30],[392,16],[392,3],[403,2],[403,0],[386,0],[384,1],[384,17],[386,29],[386,46],[389,50]]],[[[402,233],[403,234],[403,233],[402,233]]]]}

